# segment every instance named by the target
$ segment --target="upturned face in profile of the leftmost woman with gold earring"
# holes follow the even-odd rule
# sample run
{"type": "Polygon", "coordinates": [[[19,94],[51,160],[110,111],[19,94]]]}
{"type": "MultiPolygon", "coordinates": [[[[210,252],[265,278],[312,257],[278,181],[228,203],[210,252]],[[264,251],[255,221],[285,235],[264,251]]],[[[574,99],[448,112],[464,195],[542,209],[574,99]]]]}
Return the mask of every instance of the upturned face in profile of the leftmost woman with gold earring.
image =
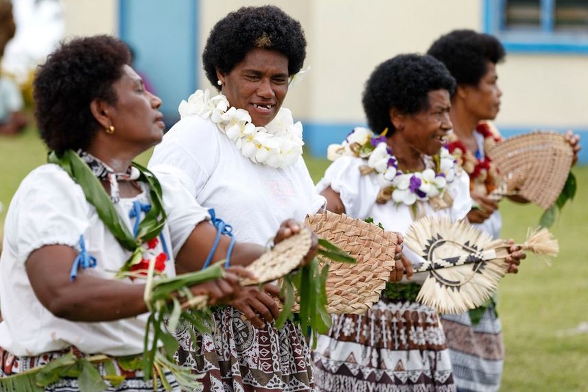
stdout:
{"type": "Polygon", "coordinates": [[[113,90],[117,101],[108,108],[108,118],[115,127],[112,137],[141,151],[161,142],[165,129],[163,114],[158,110],[161,99],[145,90],[134,69],[124,65],[113,90]]]}

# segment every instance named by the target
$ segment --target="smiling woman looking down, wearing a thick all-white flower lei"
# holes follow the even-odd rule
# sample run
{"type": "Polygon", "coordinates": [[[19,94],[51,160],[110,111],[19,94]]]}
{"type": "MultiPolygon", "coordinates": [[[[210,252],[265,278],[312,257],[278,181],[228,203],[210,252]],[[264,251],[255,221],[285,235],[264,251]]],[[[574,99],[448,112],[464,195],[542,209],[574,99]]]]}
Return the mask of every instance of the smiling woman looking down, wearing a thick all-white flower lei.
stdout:
{"type": "MultiPolygon", "coordinates": [[[[204,207],[233,225],[239,241],[265,245],[283,219],[303,221],[325,205],[302,158],[302,125],[282,108],[301,70],[300,23],[274,6],[241,8],[213,27],[202,62],[221,94],[196,91],[150,161],[174,173],[204,207]]],[[[182,331],[180,363],[206,373],[206,391],[311,391],[310,352],[300,328],[273,320],[279,310],[266,284],[250,302],[214,315],[215,332],[182,331]],[[245,315],[250,321],[244,321],[245,315]]]]}

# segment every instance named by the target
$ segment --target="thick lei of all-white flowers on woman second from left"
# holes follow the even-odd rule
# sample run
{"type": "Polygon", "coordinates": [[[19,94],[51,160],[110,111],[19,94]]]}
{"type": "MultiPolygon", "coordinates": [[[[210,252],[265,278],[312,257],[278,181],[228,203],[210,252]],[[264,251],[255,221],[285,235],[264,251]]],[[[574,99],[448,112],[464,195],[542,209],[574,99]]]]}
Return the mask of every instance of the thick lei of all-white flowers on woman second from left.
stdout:
{"type": "Polygon", "coordinates": [[[228,100],[222,94],[210,95],[209,90],[196,90],[188,101],[180,103],[180,118],[196,115],[211,119],[233,140],[241,154],[255,163],[287,167],[302,155],[302,124],[300,121],[294,123],[290,110],[281,108],[268,125],[256,127],[247,110],[229,108],[228,100]]]}

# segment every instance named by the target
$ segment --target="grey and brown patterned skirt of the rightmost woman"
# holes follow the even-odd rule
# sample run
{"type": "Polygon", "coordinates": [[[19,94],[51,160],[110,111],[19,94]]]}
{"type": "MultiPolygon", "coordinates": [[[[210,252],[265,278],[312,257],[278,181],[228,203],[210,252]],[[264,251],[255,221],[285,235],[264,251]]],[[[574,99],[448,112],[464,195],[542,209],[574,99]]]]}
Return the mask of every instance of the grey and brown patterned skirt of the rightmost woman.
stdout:
{"type": "Polygon", "coordinates": [[[502,326],[494,308],[472,326],[469,313],[441,317],[460,391],[498,391],[504,365],[502,326]]]}

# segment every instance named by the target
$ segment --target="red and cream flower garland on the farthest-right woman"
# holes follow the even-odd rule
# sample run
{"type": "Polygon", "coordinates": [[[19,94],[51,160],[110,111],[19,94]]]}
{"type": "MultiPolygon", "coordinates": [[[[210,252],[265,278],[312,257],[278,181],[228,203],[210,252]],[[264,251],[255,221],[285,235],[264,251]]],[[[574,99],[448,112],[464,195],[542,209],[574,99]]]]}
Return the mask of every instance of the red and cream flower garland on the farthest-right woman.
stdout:
{"type": "Polygon", "coordinates": [[[486,121],[478,123],[474,132],[484,137],[481,150],[475,152],[470,151],[454,133],[449,135],[447,148],[456,157],[459,166],[468,173],[470,178],[470,191],[488,195],[498,186],[498,173],[495,164],[489,156],[484,155],[484,151],[487,151],[490,147],[502,140],[502,138],[497,130],[493,128],[493,125],[486,121]]]}

